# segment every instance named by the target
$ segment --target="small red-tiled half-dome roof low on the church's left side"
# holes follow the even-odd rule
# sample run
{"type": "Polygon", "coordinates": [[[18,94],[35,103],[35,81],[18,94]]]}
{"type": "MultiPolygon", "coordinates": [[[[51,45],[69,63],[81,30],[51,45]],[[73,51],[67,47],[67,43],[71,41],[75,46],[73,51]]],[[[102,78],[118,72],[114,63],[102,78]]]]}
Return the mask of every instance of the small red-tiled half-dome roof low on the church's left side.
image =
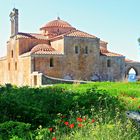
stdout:
{"type": "Polygon", "coordinates": [[[34,46],[31,49],[31,53],[37,53],[37,52],[52,52],[55,51],[54,48],[52,48],[50,45],[48,44],[38,44],[36,46],[34,46]]]}

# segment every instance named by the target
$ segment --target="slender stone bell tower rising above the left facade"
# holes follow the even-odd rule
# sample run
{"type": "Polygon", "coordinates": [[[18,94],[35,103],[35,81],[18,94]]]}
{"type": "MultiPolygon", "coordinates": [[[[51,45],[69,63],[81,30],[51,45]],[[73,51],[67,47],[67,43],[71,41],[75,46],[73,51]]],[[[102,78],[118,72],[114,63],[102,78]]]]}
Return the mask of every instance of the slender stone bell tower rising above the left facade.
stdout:
{"type": "Polygon", "coordinates": [[[18,34],[18,9],[13,9],[10,13],[10,21],[11,21],[11,37],[18,34]]]}

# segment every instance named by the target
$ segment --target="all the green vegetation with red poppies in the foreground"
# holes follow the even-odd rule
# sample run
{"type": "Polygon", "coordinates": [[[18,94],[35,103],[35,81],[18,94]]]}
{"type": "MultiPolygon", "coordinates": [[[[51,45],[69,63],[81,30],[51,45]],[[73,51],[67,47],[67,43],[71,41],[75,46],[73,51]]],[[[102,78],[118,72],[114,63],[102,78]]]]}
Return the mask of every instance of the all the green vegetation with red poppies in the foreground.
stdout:
{"type": "Polygon", "coordinates": [[[139,139],[125,111],[140,110],[139,83],[0,87],[0,139],[139,139]],[[79,118],[79,120],[77,119],[79,118]]]}

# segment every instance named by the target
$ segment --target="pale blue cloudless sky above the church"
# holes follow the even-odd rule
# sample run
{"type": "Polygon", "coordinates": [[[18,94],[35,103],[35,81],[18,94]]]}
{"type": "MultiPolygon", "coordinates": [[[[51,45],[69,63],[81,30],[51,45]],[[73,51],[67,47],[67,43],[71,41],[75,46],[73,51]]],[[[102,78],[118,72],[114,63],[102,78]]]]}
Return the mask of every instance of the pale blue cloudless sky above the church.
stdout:
{"type": "Polygon", "coordinates": [[[19,31],[39,28],[59,15],[79,30],[108,42],[108,49],[140,61],[140,0],[1,0],[0,56],[6,55],[10,36],[9,14],[19,10],[19,31]]]}

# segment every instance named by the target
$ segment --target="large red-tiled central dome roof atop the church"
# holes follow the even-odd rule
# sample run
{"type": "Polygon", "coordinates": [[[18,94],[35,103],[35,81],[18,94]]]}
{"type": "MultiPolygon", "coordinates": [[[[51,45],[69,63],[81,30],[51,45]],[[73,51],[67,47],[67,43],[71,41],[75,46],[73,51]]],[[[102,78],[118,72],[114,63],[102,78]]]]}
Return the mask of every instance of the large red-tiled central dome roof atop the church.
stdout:
{"type": "Polygon", "coordinates": [[[72,27],[68,22],[61,20],[59,17],[57,18],[57,20],[53,20],[48,22],[44,27],[42,27],[41,29],[44,28],[53,28],[53,27],[59,27],[59,28],[74,28],[72,27]]]}

